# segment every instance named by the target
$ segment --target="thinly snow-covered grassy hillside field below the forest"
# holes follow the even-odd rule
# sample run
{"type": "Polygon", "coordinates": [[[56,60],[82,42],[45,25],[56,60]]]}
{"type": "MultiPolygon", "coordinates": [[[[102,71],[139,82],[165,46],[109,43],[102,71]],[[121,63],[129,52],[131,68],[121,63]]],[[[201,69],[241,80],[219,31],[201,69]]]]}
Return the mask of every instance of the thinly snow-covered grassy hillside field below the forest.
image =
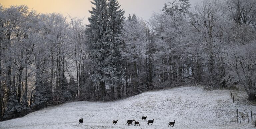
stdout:
{"type": "MultiPolygon", "coordinates": [[[[241,96],[244,93],[233,94],[241,96]]],[[[70,102],[48,107],[22,118],[0,122],[0,128],[164,129],[174,119],[175,128],[254,128],[252,122],[236,123],[236,106],[240,113],[256,112],[255,105],[242,101],[245,100],[233,103],[229,90],[176,87],[114,102],[70,102]],[[155,119],[153,125],[140,121],[141,116],[155,119]],[[79,125],[80,118],[84,120],[83,125],[79,125]],[[112,120],[116,119],[117,125],[112,125],[112,120]],[[140,126],[134,126],[134,122],[132,126],[125,125],[132,119],[139,121],[140,126]]]]}

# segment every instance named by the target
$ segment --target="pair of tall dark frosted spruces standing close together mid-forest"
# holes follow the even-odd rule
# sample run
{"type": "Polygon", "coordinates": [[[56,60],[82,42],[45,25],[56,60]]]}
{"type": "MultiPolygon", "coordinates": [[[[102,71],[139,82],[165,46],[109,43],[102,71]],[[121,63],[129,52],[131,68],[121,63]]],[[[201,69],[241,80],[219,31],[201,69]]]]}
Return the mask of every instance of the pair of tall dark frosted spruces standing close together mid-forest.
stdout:
{"type": "MultiPolygon", "coordinates": [[[[101,99],[105,97],[105,83],[110,87],[119,84],[122,75],[120,63],[120,40],[124,11],[116,0],[93,0],[90,22],[87,29],[89,38],[90,57],[95,71],[94,81],[99,81],[101,99]]],[[[119,89],[119,88],[118,88],[119,89]]],[[[113,89],[114,90],[114,89],[113,89]]],[[[118,92],[120,93],[120,92],[118,92]]],[[[112,95],[112,99],[113,99],[112,95]]],[[[120,94],[118,97],[121,97],[120,94]]]]}

